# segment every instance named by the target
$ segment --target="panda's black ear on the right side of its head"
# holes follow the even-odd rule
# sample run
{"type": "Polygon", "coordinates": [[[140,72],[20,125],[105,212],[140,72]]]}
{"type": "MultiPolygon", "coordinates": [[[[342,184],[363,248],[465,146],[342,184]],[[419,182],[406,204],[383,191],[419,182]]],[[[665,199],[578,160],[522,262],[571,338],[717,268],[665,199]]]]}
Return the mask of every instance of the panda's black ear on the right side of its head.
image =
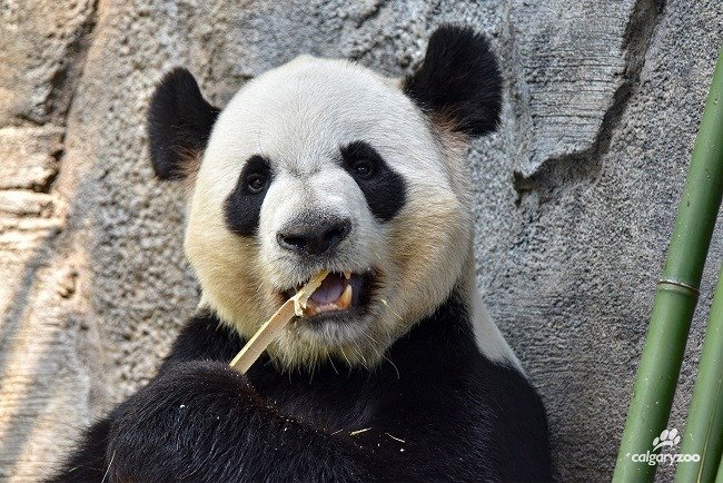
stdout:
{"type": "Polygon", "coordinates": [[[487,40],[469,28],[437,29],[422,67],[404,80],[403,90],[452,130],[482,136],[497,127],[502,76],[487,40]]]}

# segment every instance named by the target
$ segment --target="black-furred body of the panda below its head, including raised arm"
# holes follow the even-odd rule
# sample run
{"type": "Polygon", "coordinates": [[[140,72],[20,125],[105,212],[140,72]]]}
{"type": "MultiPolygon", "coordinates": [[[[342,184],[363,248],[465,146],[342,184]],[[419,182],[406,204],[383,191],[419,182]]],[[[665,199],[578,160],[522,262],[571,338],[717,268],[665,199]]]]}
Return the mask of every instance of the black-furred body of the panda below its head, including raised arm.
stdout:
{"type": "Polygon", "coordinates": [[[481,355],[455,295],[372,372],[288,374],[261,358],[246,377],[227,366],[241,344],[194,318],[53,481],[551,480],[538,395],[481,355]]]}

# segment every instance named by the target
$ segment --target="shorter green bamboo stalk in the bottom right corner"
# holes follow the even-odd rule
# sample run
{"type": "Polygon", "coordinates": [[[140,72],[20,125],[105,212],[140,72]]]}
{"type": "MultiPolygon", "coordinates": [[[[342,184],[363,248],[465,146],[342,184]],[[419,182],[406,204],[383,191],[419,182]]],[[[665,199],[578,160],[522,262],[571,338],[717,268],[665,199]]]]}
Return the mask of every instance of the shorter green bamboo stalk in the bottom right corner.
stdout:
{"type": "Polygon", "coordinates": [[[677,464],[675,481],[712,482],[723,452],[723,266],[711,305],[693,400],[683,434],[682,454],[697,462],[677,464]]]}

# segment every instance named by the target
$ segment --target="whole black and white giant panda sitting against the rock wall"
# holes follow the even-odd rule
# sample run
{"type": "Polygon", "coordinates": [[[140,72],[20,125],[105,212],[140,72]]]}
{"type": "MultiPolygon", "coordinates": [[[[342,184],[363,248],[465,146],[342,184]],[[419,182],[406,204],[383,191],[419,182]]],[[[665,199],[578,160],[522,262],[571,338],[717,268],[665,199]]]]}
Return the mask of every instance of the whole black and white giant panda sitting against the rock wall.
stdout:
{"type": "Polygon", "coordinates": [[[199,310],[55,481],[551,480],[543,404],[475,283],[465,157],[501,91],[485,38],[455,26],[403,79],[301,56],[218,109],[166,75],[150,157],[189,187],[199,310]],[[231,369],[324,269],[309,315],[231,369]]]}

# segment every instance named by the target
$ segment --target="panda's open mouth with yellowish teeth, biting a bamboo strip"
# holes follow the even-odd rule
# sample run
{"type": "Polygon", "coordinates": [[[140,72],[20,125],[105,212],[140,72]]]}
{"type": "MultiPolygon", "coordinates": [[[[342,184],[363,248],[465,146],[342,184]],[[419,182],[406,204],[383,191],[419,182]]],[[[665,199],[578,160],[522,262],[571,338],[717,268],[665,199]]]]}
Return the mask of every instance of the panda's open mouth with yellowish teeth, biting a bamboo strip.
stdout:
{"type": "MultiPolygon", "coordinates": [[[[372,282],[370,272],[364,274],[331,272],[309,297],[304,314],[314,317],[364,307],[369,302],[372,282]]],[[[293,297],[303,286],[304,284],[283,292],[284,298],[293,297]]]]}

